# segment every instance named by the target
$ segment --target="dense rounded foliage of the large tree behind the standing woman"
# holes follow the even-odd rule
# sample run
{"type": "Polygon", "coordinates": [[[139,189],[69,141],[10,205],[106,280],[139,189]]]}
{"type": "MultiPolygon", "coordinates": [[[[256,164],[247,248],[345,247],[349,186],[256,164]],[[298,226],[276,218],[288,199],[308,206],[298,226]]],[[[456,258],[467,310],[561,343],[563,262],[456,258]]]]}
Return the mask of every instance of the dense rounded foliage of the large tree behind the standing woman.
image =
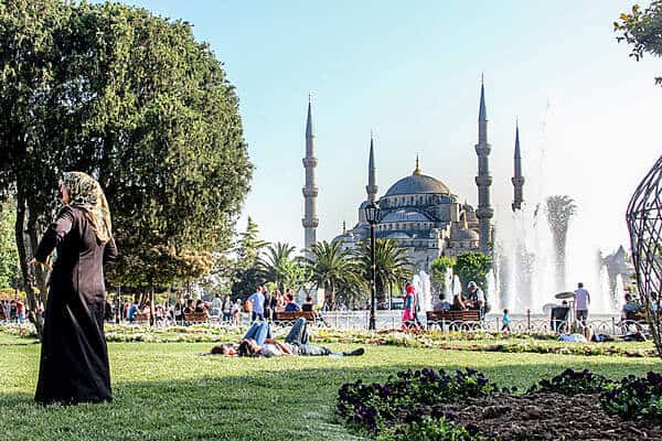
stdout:
{"type": "Polygon", "coordinates": [[[252,166],[234,87],[190,24],[119,3],[8,0],[0,41],[0,194],[15,193],[25,279],[65,170],[99,180],[122,256],[143,263],[120,262],[116,279],[147,283],[157,245],[227,247],[252,166]]]}

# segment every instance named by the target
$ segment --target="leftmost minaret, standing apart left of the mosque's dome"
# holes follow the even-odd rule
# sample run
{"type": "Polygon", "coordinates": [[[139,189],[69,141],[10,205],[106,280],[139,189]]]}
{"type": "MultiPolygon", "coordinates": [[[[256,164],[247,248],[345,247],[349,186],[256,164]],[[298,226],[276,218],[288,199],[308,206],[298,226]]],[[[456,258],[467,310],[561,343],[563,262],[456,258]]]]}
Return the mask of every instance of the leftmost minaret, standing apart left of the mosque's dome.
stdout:
{"type": "Polygon", "coordinates": [[[306,169],[306,186],[303,187],[303,246],[308,249],[317,241],[316,228],[320,224],[317,217],[316,200],[318,187],[314,182],[314,168],[317,158],[314,158],[314,130],[312,128],[312,106],[311,96],[308,96],[308,119],[306,120],[306,158],[303,158],[303,168],[306,169]]]}

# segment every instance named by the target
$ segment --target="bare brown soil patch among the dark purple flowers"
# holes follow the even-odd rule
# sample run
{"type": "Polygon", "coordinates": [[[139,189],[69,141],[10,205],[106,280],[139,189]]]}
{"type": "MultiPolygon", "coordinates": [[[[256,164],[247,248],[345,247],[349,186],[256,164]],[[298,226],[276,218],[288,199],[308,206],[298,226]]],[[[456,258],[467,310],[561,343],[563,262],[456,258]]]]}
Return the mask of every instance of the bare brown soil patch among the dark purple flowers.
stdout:
{"type": "Polygon", "coordinates": [[[662,426],[607,415],[597,395],[494,395],[465,402],[413,409],[398,416],[403,423],[421,415],[452,413],[460,424],[476,424],[481,434],[508,440],[662,440],[662,426]]]}

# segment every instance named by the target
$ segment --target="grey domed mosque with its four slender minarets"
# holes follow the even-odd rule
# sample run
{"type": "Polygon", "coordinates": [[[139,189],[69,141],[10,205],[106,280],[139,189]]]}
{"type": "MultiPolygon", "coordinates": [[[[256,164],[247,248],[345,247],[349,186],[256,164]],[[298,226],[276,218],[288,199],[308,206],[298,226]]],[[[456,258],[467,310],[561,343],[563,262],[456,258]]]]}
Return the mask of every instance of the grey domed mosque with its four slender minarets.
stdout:
{"type": "MultiPolygon", "coordinates": [[[[365,206],[375,203],[380,206],[378,224],[375,226],[377,238],[391,238],[406,249],[407,257],[418,269],[427,270],[429,263],[439,256],[457,256],[468,251],[491,252],[493,235],[493,208],[491,205],[488,143],[488,118],[485,109],[484,85],[481,85],[478,117],[478,143],[474,147],[478,157],[476,185],[478,190],[478,207],[462,203],[457,194],[440,180],[424,174],[418,158],[412,174],[402,178],[388,187],[386,193],[377,197],[375,146],[371,137],[366,200],[359,205],[356,224],[333,240],[340,241],[344,248],[353,248],[359,243],[370,239],[370,225],[365,218],[365,206]]],[[[316,243],[318,189],[314,183],[314,131],[312,126],[311,105],[308,105],[306,127],[306,186],[303,187],[306,248],[316,243]]],[[[513,211],[523,203],[519,128],[515,132],[513,211]]]]}

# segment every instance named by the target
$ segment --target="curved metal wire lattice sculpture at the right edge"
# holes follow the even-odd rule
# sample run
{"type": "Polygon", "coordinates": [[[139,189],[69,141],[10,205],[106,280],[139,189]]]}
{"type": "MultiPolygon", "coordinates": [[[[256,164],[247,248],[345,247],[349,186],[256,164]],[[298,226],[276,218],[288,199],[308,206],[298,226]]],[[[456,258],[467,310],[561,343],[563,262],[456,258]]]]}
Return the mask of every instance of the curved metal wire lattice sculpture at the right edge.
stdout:
{"type": "Polygon", "coordinates": [[[626,218],[639,297],[645,306],[651,334],[662,358],[662,157],[634,191],[626,218]]]}

